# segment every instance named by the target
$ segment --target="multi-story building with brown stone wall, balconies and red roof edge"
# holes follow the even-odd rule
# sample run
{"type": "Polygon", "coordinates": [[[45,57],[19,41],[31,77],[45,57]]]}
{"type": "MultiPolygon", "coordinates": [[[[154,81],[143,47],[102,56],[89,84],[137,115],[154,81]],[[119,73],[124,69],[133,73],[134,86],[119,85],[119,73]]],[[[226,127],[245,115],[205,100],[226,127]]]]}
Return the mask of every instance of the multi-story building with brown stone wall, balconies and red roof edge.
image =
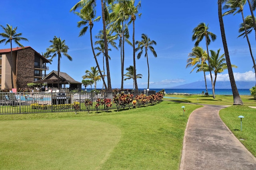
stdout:
{"type": "Polygon", "coordinates": [[[31,47],[0,49],[0,88],[12,88],[11,65],[14,88],[26,88],[27,84],[41,80],[46,76],[50,63],[31,47]]]}

